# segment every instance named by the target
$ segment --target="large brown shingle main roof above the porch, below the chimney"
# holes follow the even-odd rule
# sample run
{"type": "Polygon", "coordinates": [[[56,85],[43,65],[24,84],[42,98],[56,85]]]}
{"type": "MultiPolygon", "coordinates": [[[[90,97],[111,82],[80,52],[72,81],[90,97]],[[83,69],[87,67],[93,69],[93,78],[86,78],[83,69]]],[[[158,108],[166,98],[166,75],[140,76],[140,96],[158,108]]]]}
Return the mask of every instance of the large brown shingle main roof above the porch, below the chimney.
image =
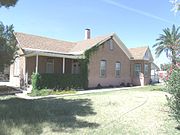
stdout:
{"type": "Polygon", "coordinates": [[[35,36],[31,34],[16,32],[15,36],[22,49],[48,50],[67,54],[82,54],[101,41],[110,38],[111,35],[99,36],[79,42],[68,42],[51,39],[47,37],[35,36]]]}

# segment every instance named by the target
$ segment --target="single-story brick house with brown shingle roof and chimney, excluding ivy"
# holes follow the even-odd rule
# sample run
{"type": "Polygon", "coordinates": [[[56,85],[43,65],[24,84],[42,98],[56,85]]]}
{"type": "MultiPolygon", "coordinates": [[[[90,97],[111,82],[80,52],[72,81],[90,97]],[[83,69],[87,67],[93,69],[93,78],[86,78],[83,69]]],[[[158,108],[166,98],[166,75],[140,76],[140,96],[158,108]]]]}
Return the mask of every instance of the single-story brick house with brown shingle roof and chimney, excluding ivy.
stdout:
{"type": "Polygon", "coordinates": [[[115,33],[91,38],[90,29],[86,29],[85,39],[79,42],[19,32],[14,35],[20,48],[19,57],[10,66],[10,83],[15,86],[30,83],[33,72],[79,74],[82,67],[78,60],[95,47],[98,49],[89,55],[89,88],[150,82],[153,57],[149,47],[128,49],[115,33]]]}

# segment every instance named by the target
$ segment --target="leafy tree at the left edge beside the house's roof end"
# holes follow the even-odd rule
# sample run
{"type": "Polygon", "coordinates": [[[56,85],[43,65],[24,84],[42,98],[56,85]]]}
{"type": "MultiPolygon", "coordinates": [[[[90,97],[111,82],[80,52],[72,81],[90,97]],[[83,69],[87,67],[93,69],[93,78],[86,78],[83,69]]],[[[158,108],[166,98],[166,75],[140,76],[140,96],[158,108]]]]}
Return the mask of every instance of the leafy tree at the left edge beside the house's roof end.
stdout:
{"type": "Polygon", "coordinates": [[[17,54],[18,48],[13,32],[13,25],[4,26],[0,22],[0,71],[12,64],[17,54]]]}

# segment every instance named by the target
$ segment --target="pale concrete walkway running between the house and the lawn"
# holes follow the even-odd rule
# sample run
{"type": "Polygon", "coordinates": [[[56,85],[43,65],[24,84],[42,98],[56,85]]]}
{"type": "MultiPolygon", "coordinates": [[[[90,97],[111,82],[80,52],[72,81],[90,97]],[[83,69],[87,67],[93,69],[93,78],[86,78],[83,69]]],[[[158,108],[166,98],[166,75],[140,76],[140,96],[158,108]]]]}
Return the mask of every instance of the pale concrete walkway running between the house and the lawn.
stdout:
{"type": "Polygon", "coordinates": [[[67,96],[85,95],[85,94],[108,92],[108,91],[129,90],[129,89],[136,89],[142,87],[146,87],[146,86],[82,90],[82,91],[77,91],[75,94],[48,95],[48,96],[36,96],[36,97],[30,97],[27,95],[28,91],[23,91],[23,93],[17,93],[16,96],[23,99],[41,99],[48,97],[67,97],[67,96]]]}

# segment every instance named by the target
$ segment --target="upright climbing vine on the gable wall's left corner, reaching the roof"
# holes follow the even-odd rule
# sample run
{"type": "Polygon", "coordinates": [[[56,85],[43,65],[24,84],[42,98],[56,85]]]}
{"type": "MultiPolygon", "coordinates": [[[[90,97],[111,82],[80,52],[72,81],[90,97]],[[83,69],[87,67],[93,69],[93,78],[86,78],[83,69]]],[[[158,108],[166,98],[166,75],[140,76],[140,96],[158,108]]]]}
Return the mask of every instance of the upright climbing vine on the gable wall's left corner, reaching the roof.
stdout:
{"type": "Polygon", "coordinates": [[[79,59],[79,63],[81,65],[80,73],[81,73],[81,80],[83,81],[83,88],[88,88],[88,64],[90,61],[90,57],[98,50],[99,44],[96,44],[91,49],[86,50],[84,52],[84,59],[79,59]]]}

